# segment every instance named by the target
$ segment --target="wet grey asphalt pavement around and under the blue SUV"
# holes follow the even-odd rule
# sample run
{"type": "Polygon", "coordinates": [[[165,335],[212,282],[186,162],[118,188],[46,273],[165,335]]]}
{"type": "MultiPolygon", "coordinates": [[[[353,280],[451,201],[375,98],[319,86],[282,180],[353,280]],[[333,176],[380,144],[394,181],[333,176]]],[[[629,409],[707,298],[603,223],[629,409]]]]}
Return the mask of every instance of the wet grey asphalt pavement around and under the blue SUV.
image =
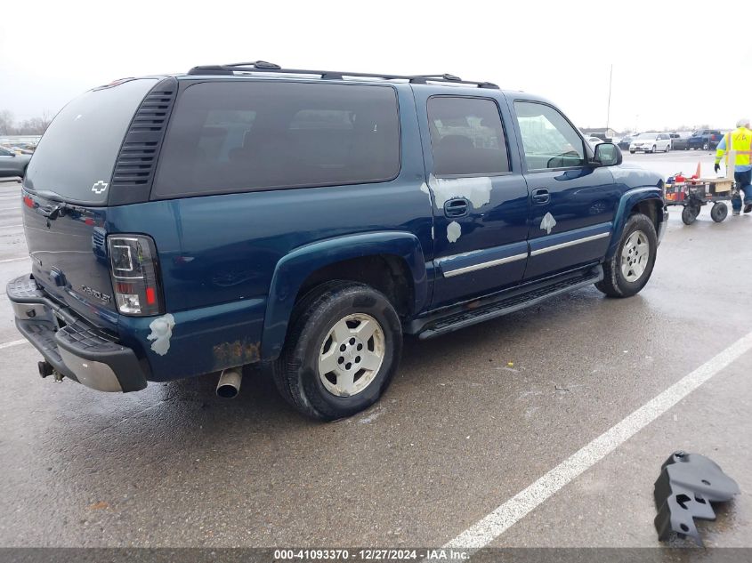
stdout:
{"type": "MultiPolygon", "coordinates": [[[[712,154],[627,155],[660,173],[712,154]]],[[[0,183],[0,277],[28,271],[18,184],[0,183]],[[16,209],[14,211],[14,209],[16,209]],[[18,260],[16,260],[18,259],[18,260]]],[[[752,331],[752,216],[686,227],[671,213],[643,292],[589,288],[406,344],[384,398],[319,423],[247,370],[110,395],[36,374],[0,349],[0,545],[440,546],[752,331]]],[[[0,299],[0,346],[20,339],[0,299]]],[[[699,525],[752,546],[752,353],[561,488],[497,546],[658,546],[652,484],[677,449],[706,454],[742,494],[699,525]]]]}

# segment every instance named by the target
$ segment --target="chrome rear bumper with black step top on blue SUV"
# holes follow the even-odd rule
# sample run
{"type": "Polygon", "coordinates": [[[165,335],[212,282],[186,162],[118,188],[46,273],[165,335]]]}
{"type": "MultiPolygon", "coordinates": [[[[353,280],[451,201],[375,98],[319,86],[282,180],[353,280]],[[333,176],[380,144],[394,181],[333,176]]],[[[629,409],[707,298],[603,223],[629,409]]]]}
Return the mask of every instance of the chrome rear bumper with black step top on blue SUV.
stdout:
{"type": "Polygon", "coordinates": [[[147,385],[142,363],[117,342],[53,302],[30,275],[6,286],[16,326],[61,375],[101,391],[137,391],[147,385]]]}

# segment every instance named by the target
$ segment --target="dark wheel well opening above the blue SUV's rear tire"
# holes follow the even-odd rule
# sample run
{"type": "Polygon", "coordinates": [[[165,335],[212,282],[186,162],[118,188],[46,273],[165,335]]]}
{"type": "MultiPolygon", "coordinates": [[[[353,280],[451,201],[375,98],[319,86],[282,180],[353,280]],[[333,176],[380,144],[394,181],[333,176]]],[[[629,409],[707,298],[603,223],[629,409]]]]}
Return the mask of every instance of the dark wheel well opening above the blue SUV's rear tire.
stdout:
{"type": "Polygon", "coordinates": [[[336,261],[314,270],[300,286],[295,303],[316,286],[335,279],[373,287],[386,296],[400,318],[408,318],[415,312],[415,286],[408,262],[388,253],[336,261]]]}

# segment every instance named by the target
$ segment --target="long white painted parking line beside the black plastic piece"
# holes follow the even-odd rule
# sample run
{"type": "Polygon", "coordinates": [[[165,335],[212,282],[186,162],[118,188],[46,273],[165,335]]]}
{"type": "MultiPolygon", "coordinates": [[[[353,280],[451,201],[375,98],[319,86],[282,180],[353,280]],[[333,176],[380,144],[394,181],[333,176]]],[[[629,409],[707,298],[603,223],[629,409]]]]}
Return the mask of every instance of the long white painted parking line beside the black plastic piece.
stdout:
{"type": "Polygon", "coordinates": [[[587,446],[559,463],[553,470],[538,479],[526,489],[501,504],[488,516],[477,521],[462,534],[457,535],[444,548],[481,549],[499,535],[513,527],[538,505],[544,503],[559,489],[576,479],[581,473],[601,461],[627,439],[667,412],[693,390],[730,365],[748,350],[752,350],[752,333],[741,337],[715,358],[709,359],[691,374],[685,375],[667,390],[663,391],[643,406],[629,414],[627,418],[612,426],[587,446]]]}

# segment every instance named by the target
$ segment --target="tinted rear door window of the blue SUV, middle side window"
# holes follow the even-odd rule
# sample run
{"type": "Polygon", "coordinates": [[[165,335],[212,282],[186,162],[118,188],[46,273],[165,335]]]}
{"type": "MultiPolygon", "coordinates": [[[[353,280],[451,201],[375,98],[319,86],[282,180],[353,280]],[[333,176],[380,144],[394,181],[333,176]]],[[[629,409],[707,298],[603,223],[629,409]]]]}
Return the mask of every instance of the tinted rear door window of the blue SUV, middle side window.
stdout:
{"type": "Polygon", "coordinates": [[[494,101],[433,96],[428,99],[428,126],[437,176],[509,172],[504,129],[494,101]]]}

